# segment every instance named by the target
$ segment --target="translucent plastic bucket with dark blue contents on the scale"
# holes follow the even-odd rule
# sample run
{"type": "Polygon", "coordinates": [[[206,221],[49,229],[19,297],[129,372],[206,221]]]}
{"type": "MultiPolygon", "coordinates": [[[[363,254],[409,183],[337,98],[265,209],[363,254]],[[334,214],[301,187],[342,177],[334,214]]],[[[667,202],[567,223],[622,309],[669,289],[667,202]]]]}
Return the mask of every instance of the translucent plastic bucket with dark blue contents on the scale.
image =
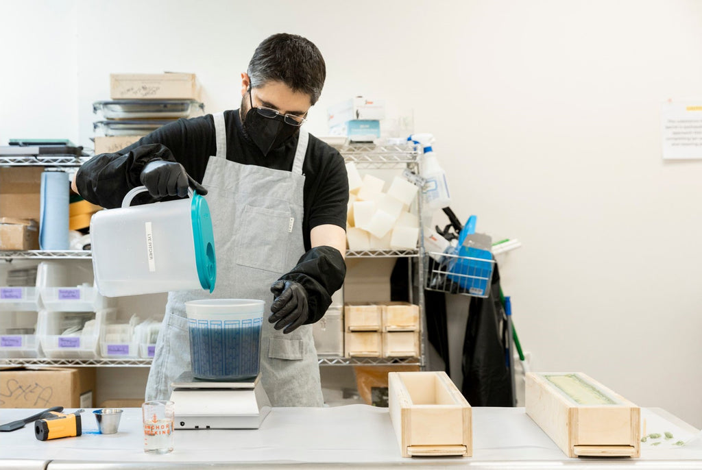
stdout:
{"type": "Polygon", "coordinates": [[[185,302],[193,377],[226,382],[258,375],[263,303],[248,299],[185,302]]]}

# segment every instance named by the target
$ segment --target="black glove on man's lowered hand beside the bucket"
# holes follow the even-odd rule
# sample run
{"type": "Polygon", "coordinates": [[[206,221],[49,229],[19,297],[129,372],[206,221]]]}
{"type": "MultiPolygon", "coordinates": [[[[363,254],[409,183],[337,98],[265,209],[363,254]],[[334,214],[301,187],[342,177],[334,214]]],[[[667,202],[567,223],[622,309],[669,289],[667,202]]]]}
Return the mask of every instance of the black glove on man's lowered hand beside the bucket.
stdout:
{"type": "Polygon", "coordinates": [[[295,281],[275,281],[270,286],[275,296],[270,306],[270,323],[275,323],[276,330],[290,333],[307,321],[310,316],[310,305],[307,303],[307,290],[295,281]]]}

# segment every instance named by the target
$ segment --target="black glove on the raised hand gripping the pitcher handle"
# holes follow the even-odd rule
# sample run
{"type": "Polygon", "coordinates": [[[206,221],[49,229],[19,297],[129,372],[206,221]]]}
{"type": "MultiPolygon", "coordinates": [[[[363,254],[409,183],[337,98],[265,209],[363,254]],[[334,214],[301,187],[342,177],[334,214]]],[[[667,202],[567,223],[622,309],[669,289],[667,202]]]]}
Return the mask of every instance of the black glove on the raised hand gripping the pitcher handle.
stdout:
{"type": "Polygon", "coordinates": [[[188,187],[192,187],[202,196],[207,194],[207,189],[193,180],[183,165],[176,161],[150,161],[141,171],[139,179],[154,198],[185,197],[188,187]]]}

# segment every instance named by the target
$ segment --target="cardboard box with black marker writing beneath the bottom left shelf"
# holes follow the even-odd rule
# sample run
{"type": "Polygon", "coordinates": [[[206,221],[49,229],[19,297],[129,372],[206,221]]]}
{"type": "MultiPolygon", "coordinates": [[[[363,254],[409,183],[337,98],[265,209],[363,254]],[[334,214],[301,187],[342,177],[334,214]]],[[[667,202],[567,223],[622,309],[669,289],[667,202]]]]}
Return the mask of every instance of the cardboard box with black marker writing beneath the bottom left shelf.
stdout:
{"type": "Polygon", "coordinates": [[[95,368],[7,368],[0,372],[0,408],[93,408],[95,368]]]}

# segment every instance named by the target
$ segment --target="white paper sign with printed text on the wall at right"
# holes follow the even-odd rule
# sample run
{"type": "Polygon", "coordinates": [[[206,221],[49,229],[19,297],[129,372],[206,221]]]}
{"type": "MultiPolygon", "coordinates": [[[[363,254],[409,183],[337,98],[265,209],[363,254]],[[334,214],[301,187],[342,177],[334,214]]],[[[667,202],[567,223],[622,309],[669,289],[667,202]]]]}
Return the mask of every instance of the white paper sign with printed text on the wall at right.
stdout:
{"type": "Polygon", "coordinates": [[[702,101],[663,103],[663,159],[702,159],[702,101]]]}

